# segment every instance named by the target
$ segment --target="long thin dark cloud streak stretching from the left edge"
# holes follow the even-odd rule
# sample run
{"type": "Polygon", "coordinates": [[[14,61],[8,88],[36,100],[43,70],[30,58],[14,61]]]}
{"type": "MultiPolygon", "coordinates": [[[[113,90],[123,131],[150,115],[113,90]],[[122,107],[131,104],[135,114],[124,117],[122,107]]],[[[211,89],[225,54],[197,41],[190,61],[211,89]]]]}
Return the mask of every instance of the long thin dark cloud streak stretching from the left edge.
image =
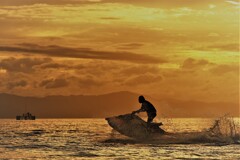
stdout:
{"type": "Polygon", "coordinates": [[[39,46],[21,44],[19,46],[0,46],[0,51],[25,52],[48,55],[52,57],[87,58],[101,60],[118,60],[133,63],[165,63],[166,60],[132,52],[95,51],[90,48],[68,48],[57,45],[39,46]]]}

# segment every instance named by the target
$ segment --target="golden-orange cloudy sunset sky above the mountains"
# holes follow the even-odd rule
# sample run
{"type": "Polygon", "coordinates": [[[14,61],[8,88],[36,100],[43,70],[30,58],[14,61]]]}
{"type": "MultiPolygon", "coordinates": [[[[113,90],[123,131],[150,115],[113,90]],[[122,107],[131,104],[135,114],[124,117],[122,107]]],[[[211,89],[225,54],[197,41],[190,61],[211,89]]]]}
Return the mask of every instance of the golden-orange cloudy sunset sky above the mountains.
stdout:
{"type": "Polygon", "coordinates": [[[0,1],[0,92],[239,102],[237,0],[0,1]]]}

